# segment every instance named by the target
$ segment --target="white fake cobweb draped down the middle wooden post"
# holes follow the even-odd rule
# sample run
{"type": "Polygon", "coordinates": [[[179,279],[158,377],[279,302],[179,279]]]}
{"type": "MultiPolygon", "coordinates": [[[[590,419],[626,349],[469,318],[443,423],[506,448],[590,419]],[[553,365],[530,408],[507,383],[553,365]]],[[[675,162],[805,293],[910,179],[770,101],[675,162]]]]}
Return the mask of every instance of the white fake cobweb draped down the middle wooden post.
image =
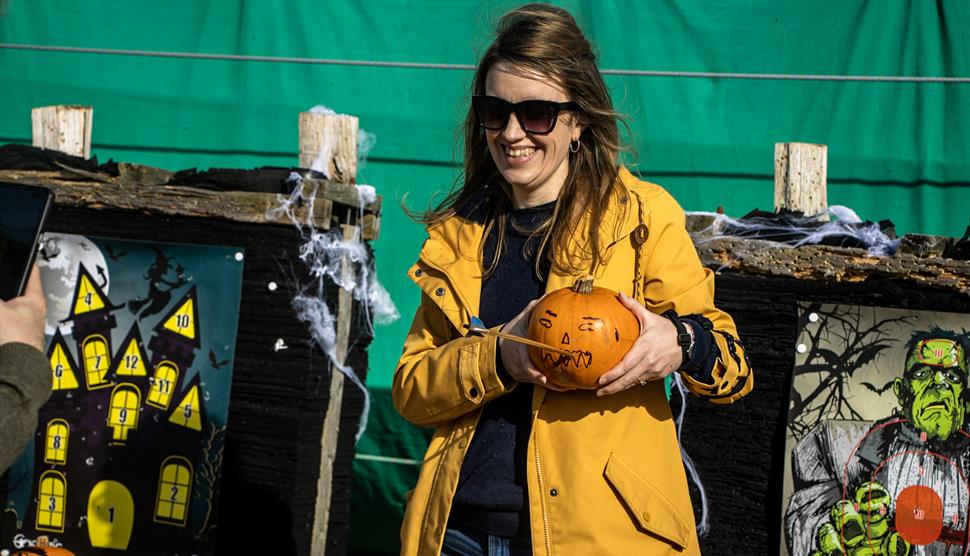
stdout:
{"type": "MultiPolygon", "coordinates": [[[[313,110],[318,108],[314,107],[313,110]]],[[[358,157],[361,164],[374,141],[373,134],[363,130],[358,133],[358,157]]],[[[327,165],[319,162],[329,160],[331,153],[323,152],[328,148],[331,147],[324,141],[321,152],[317,156],[317,162],[313,165],[313,170],[321,172],[324,176],[326,176],[327,165]]],[[[287,183],[292,187],[292,193],[278,195],[278,206],[270,209],[267,217],[274,219],[286,217],[300,232],[299,257],[306,265],[307,276],[303,280],[297,279],[297,294],[292,300],[293,310],[297,318],[307,325],[310,336],[327,355],[332,368],[343,374],[363,394],[363,414],[356,433],[356,440],[360,440],[367,429],[370,394],[360,374],[346,363],[346,354],[340,354],[337,351],[337,319],[334,310],[326,303],[327,288],[336,286],[351,294],[357,302],[355,305],[364,313],[361,320],[370,335],[373,335],[375,324],[390,324],[400,318],[400,313],[391,300],[390,294],[377,279],[374,259],[361,236],[362,228],[353,227],[353,234],[350,237],[344,237],[340,227],[329,230],[318,229],[313,220],[317,182],[304,183],[304,176],[293,172],[287,183]],[[299,214],[306,216],[301,219],[299,214]]],[[[356,187],[360,207],[357,221],[363,222],[363,206],[373,202],[377,198],[377,193],[370,185],[356,187]]],[[[352,344],[352,340],[350,343],[352,344]]],[[[349,346],[345,351],[349,351],[349,346]]]]}

